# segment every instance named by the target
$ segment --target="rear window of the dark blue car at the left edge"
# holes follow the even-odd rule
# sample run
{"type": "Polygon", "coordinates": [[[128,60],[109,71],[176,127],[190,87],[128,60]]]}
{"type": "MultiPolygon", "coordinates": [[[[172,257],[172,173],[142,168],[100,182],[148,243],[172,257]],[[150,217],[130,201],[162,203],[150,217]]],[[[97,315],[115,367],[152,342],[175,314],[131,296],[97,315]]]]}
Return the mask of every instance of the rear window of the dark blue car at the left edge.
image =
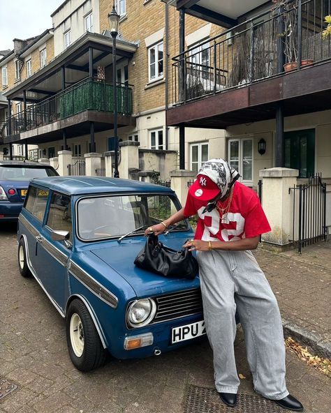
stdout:
{"type": "Polygon", "coordinates": [[[34,165],[0,165],[0,181],[31,181],[34,178],[55,177],[51,167],[35,167],[34,165]]]}

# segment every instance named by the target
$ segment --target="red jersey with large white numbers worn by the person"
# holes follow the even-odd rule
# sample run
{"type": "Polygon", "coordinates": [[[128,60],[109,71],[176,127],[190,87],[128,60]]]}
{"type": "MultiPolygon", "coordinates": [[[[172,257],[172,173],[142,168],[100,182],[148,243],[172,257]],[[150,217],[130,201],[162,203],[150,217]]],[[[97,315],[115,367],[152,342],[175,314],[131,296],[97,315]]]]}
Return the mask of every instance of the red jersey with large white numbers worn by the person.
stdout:
{"type": "MultiPolygon", "coordinates": [[[[228,200],[219,206],[223,208],[227,203],[228,200]]],[[[195,239],[235,241],[271,231],[258,195],[240,182],[235,182],[228,213],[220,216],[217,208],[203,213],[206,205],[207,202],[193,197],[190,193],[187,195],[184,216],[189,217],[196,213],[199,216],[195,239]]]]}

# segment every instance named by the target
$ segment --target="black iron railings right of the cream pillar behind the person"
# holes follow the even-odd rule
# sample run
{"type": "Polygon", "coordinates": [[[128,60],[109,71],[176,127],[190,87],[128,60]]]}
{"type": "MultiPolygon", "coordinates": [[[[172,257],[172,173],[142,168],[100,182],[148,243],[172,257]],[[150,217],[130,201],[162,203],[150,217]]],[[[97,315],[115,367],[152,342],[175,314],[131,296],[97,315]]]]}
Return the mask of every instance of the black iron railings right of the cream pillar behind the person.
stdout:
{"type": "Polygon", "coordinates": [[[308,183],[295,185],[293,190],[293,239],[297,233],[297,249],[327,239],[326,183],[322,174],[309,178],[308,183]]]}

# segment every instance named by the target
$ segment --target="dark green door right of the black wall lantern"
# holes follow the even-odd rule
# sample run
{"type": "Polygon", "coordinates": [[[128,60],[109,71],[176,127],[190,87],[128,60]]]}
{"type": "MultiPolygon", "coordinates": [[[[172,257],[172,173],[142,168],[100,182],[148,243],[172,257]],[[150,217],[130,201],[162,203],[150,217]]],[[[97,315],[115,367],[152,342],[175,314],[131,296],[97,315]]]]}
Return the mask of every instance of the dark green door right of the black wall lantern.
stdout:
{"type": "Polygon", "coordinates": [[[299,178],[315,172],[315,129],[284,133],[284,166],[299,170],[299,178]]]}

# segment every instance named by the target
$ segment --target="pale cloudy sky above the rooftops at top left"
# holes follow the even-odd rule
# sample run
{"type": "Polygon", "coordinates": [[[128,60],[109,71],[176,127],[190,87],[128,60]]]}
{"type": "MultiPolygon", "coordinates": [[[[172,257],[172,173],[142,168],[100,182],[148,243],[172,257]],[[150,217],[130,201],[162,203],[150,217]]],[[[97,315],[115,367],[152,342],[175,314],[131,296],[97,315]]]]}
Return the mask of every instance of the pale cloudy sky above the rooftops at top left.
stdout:
{"type": "Polygon", "coordinates": [[[38,36],[52,28],[50,15],[64,0],[0,0],[0,50],[13,50],[13,38],[38,36]]]}

